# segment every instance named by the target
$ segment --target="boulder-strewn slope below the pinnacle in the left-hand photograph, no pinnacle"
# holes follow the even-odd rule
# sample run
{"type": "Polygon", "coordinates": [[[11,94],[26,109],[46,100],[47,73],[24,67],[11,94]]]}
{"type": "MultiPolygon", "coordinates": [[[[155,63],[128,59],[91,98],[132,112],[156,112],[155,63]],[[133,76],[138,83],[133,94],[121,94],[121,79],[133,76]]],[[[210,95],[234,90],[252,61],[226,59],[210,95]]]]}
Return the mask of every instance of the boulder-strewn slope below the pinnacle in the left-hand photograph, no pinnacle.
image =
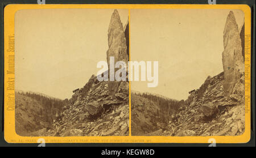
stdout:
{"type": "Polygon", "coordinates": [[[129,133],[129,83],[122,82],[115,95],[109,95],[108,82],[98,82],[92,76],[83,88],[77,89],[69,100],[71,106],[53,122],[52,129],[44,129],[49,136],[105,136],[129,133]],[[85,88],[84,87],[84,88],[85,88]]]}

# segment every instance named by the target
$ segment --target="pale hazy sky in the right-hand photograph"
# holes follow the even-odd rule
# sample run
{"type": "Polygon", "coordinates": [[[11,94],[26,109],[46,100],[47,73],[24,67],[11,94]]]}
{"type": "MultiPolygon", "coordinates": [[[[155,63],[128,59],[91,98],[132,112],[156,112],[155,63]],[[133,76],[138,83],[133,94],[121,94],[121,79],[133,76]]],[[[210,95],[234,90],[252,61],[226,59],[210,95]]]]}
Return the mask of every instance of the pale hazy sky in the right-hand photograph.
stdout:
{"type": "MultiPolygon", "coordinates": [[[[158,61],[158,87],[132,82],[131,89],[187,99],[208,75],[223,71],[223,31],[230,10],[131,10],[131,61],[158,61]]],[[[238,28],[243,12],[233,10],[238,28]]]]}

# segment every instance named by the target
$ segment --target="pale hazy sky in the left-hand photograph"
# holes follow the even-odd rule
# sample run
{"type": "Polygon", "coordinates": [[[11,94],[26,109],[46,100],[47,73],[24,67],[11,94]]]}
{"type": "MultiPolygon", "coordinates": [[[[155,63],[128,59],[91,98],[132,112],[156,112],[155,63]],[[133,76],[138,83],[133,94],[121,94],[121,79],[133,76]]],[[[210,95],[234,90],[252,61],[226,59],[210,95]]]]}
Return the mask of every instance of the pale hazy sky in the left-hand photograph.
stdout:
{"type": "MultiPolygon", "coordinates": [[[[15,88],[70,98],[97,62],[106,61],[113,9],[19,10],[15,15],[15,88]]],[[[118,10],[123,25],[128,10],[118,10]]]]}

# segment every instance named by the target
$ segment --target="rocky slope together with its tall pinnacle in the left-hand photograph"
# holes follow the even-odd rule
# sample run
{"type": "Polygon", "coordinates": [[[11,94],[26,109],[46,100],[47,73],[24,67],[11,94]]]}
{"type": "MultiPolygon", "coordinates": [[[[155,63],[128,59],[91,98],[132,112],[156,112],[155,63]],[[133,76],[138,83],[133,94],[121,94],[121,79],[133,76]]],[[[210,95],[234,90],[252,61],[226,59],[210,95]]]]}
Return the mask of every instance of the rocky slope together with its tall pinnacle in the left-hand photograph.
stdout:
{"type": "MultiPolygon", "coordinates": [[[[115,61],[128,61],[127,35],[129,23],[123,27],[114,10],[108,29],[109,66],[111,56],[115,61]]],[[[64,101],[67,108],[53,120],[51,128],[42,128],[31,136],[129,135],[129,82],[99,81],[92,75],[84,87],[75,89],[71,99],[64,101]]]]}

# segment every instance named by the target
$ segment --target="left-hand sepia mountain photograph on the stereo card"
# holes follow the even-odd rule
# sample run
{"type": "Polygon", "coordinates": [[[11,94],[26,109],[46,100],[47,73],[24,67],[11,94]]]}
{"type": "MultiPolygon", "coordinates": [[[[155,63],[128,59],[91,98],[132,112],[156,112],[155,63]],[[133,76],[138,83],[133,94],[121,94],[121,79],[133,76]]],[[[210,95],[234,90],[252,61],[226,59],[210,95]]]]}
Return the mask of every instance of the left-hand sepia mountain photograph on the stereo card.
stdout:
{"type": "Polygon", "coordinates": [[[16,134],[129,135],[129,82],[108,81],[110,56],[129,61],[127,9],[17,11],[16,134]]]}

